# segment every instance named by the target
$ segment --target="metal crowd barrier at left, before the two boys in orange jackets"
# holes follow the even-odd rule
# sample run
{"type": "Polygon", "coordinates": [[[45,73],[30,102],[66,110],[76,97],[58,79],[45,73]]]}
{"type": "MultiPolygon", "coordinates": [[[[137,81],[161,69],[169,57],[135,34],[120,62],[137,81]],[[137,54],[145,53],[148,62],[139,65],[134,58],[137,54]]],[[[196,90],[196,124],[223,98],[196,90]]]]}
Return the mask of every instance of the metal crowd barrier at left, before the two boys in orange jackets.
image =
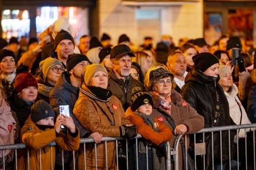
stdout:
{"type": "MultiPolygon", "coordinates": [[[[138,149],[138,141],[137,139],[138,138],[141,138],[141,135],[138,134],[136,137],[135,137],[135,140],[136,140],[136,153],[138,153],[137,149],[138,149]]],[[[108,164],[107,164],[107,141],[115,141],[115,146],[116,146],[116,157],[118,157],[118,145],[117,145],[117,140],[126,140],[126,163],[127,163],[127,170],[128,170],[128,140],[126,138],[122,138],[122,137],[116,137],[116,138],[111,138],[111,137],[102,137],[102,141],[101,142],[104,142],[104,145],[105,145],[105,153],[106,153],[106,170],[108,170],[108,164]]],[[[85,170],[86,170],[86,154],[85,154],[85,151],[86,151],[86,144],[87,143],[94,143],[94,139],[92,138],[86,138],[86,139],[80,139],[80,144],[83,145],[83,149],[84,149],[84,163],[85,163],[85,170]]],[[[50,144],[48,144],[47,146],[50,147],[50,154],[51,154],[51,170],[54,170],[53,169],[53,154],[52,154],[52,147],[55,146],[56,143],[55,142],[52,142],[50,144]]],[[[81,145],[80,145],[81,147],[81,145]]],[[[94,148],[95,148],[95,166],[96,166],[96,170],[97,170],[97,151],[96,151],[96,147],[97,147],[97,144],[94,143],[94,148]]],[[[17,170],[18,167],[17,167],[17,150],[18,149],[23,149],[23,148],[27,148],[27,146],[25,144],[14,144],[14,145],[0,145],[0,150],[2,150],[3,152],[3,155],[4,155],[4,152],[5,150],[10,150],[10,149],[13,149],[15,150],[15,167],[14,167],[14,170],[17,170]]],[[[167,166],[167,170],[170,170],[170,145],[169,145],[169,142],[166,143],[166,148],[167,148],[167,163],[166,163],[166,166],[167,166]]],[[[148,149],[148,146],[146,146],[146,151],[148,149]]],[[[64,156],[63,156],[63,151],[62,151],[62,170],[64,170],[64,156]]],[[[55,155],[54,155],[55,156],[55,155]]],[[[27,157],[29,157],[29,150],[27,149],[27,157]]],[[[148,152],[147,152],[147,170],[148,170],[148,152]]],[[[30,169],[29,168],[29,159],[27,159],[27,165],[28,165],[28,170],[30,169]]],[[[116,167],[118,169],[118,165],[119,165],[119,161],[118,159],[116,159],[116,167]]],[[[42,164],[42,161],[41,160],[41,149],[40,149],[40,170],[42,169],[41,168],[41,164],[42,164]]],[[[3,157],[3,170],[5,170],[5,158],[3,157]]],[[[136,154],[136,167],[137,167],[137,170],[138,169],[138,154],[136,154]]],[[[75,151],[73,151],[73,170],[75,170],[76,167],[75,167],[75,151]]]]}

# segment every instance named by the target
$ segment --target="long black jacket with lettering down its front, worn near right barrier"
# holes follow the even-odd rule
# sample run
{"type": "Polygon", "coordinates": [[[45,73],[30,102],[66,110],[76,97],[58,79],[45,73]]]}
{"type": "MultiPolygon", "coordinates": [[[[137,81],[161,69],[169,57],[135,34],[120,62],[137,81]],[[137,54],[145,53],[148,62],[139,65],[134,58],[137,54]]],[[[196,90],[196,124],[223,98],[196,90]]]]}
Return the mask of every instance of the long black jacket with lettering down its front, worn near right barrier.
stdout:
{"type": "MultiPolygon", "coordinates": [[[[191,107],[195,108],[197,113],[204,117],[204,128],[212,126],[213,116],[216,108],[216,90],[219,95],[220,118],[216,122],[216,126],[236,125],[229,115],[229,102],[222,87],[218,84],[219,76],[216,80],[212,76],[207,76],[198,71],[193,66],[185,77],[185,85],[181,89],[182,98],[187,101],[191,107]]],[[[198,140],[202,141],[202,134],[198,135],[198,140]]],[[[221,159],[221,143],[219,132],[214,132],[214,160],[221,159]]],[[[234,132],[230,131],[230,139],[228,131],[222,132],[222,161],[229,160],[229,141],[231,144],[230,157],[233,158],[233,140],[234,132]]],[[[211,134],[205,135],[206,142],[206,169],[212,168],[212,149],[211,149],[211,134]]]]}

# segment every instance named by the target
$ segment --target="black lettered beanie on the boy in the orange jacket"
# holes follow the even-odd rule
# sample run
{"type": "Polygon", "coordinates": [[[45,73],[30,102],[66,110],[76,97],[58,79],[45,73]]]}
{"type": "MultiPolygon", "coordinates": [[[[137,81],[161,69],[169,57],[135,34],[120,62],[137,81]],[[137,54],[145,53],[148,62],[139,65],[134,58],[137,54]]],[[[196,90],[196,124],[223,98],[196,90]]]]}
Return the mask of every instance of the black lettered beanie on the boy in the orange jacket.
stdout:
{"type": "Polygon", "coordinates": [[[150,105],[153,107],[153,100],[149,92],[136,91],[135,93],[132,94],[131,100],[133,101],[133,104],[131,107],[133,112],[137,110],[139,107],[141,107],[141,105],[143,104],[150,103],[150,105]]]}

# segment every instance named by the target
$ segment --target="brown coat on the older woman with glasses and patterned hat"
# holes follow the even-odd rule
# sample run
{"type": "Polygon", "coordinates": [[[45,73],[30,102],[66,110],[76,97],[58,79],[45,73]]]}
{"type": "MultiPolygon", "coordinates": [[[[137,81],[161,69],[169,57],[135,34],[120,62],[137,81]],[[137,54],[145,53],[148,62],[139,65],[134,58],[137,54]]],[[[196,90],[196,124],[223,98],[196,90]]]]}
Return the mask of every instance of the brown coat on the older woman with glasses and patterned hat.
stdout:
{"type": "MultiPolygon", "coordinates": [[[[165,126],[168,126],[173,132],[173,127],[169,124],[168,120],[163,116],[163,114],[168,115],[173,121],[175,126],[180,124],[184,124],[188,128],[188,132],[186,132],[187,136],[187,147],[189,148],[189,133],[195,133],[201,130],[204,126],[204,119],[201,115],[196,113],[195,109],[189,105],[186,101],[182,100],[181,94],[176,92],[174,89],[171,90],[171,113],[169,114],[162,106],[161,99],[155,93],[150,92],[152,94],[152,99],[154,102],[152,115],[157,118],[157,120],[161,121],[165,126]]],[[[185,141],[185,135],[182,137],[183,141],[185,141]]],[[[176,136],[173,135],[169,140],[170,147],[174,148],[174,143],[176,140],[176,136]]],[[[179,147],[179,170],[182,170],[182,147],[181,144],[179,147]]],[[[188,149],[187,148],[187,149],[188,149]]],[[[173,165],[173,164],[172,164],[173,165]]],[[[173,167],[172,167],[173,169],[173,167]]]]}

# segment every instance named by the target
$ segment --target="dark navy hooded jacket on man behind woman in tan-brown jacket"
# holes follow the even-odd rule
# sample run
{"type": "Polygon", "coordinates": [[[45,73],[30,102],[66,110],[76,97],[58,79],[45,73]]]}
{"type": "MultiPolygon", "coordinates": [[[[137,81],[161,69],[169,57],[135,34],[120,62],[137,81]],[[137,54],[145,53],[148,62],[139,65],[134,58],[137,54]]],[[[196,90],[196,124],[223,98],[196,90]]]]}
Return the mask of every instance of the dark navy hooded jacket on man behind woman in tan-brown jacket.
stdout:
{"type": "Polygon", "coordinates": [[[81,135],[80,137],[83,138],[85,135],[88,137],[90,134],[89,131],[79,123],[73,114],[73,108],[78,98],[78,93],[79,87],[74,87],[71,84],[67,71],[64,71],[61,76],[59,76],[56,86],[50,92],[50,105],[53,107],[56,116],[60,114],[61,105],[68,105],[69,115],[72,117],[74,125],[78,127],[81,135]]]}

